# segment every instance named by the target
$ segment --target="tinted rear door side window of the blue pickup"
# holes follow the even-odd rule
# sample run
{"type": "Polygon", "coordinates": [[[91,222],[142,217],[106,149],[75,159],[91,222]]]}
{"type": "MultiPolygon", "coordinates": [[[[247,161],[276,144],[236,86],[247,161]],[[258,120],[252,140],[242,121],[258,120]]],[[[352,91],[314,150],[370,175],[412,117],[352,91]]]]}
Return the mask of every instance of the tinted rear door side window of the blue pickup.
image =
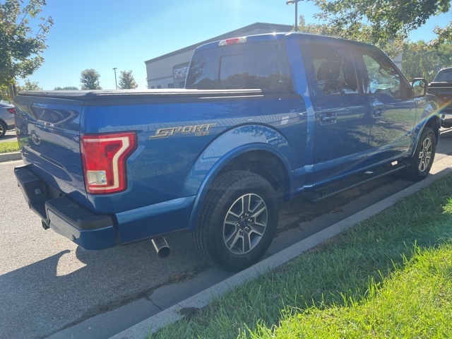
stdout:
{"type": "Polygon", "coordinates": [[[348,49],[331,44],[310,44],[316,87],[327,95],[356,94],[359,86],[348,49]]]}

